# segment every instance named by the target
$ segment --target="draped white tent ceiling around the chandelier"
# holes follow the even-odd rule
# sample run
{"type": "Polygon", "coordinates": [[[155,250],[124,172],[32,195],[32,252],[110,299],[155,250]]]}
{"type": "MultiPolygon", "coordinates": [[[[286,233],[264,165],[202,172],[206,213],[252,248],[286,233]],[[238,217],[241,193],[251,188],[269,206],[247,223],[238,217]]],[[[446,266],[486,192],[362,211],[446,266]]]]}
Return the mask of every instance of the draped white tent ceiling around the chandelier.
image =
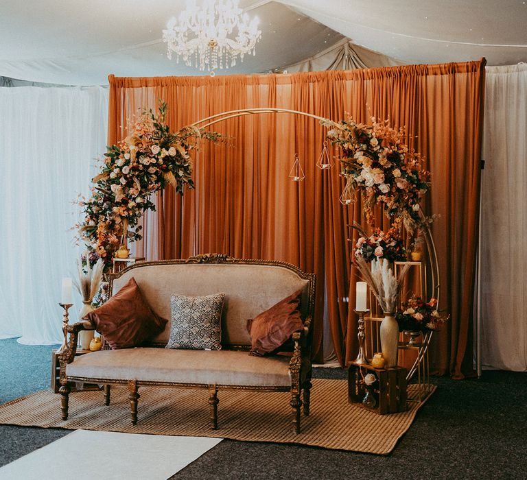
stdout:
{"type": "MultiPolygon", "coordinates": [[[[255,57],[218,73],[257,73],[342,38],[408,63],[527,61],[523,0],[242,0],[260,18],[255,57]]],[[[0,75],[62,84],[121,76],[202,75],[165,56],[161,30],[185,0],[3,0],[0,75]]]]}

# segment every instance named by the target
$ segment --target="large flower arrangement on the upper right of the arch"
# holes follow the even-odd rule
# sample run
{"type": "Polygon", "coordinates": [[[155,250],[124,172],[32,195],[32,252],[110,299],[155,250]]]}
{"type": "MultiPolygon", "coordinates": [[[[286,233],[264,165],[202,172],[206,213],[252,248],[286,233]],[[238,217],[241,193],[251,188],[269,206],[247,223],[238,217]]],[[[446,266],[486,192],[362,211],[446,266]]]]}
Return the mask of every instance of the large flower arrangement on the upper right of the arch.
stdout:
{"type": "Polygon", "coordinates": [[[342,148],[342,175],[347,188],[365,193],[364,211],[369,224],[373,207],[383,204],[387,217],[399,217],[408,231],[423,221],[419,201],[428,191],[430,172],[422,167],[421,154],[412,152],[404,143],[404,130],[395,130],[388,121],[372,125],[355,123],[353,119],[323,122],[327,138],[342,148]]]}

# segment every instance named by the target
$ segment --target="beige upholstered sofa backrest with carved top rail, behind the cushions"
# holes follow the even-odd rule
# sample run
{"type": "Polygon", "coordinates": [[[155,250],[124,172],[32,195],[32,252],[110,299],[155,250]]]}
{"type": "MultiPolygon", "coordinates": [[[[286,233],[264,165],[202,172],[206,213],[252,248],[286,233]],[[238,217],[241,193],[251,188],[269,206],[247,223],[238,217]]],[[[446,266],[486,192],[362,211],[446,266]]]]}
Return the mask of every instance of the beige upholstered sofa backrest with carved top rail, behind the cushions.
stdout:
{"type": "Polygon", "coordinates": [[[200,255],[185,260],[137,263],[113,274],[112,295],[133,277],[150,307],[168,320],[165,331],[153,339],[166,343],[170,333],[170,296],[225,293],[222,312],[222,344],[250,345],[247,320],[283,298],[303,289],[303,318],[313,314],[314,274],[288,263],[238,260],[223,255],[200,255]]]}

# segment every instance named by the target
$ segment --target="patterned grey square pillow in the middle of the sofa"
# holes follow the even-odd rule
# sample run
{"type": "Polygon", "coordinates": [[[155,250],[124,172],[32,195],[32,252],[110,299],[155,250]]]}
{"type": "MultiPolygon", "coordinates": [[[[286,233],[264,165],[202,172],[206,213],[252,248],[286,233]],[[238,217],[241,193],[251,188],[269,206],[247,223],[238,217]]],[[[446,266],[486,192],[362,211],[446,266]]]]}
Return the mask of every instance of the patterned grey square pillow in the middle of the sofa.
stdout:
{"type": "Polygon", "coordinates": [[[220,350],[225,293],[187,297],[172,295],[172,324],[166,348],[220,350]]]}

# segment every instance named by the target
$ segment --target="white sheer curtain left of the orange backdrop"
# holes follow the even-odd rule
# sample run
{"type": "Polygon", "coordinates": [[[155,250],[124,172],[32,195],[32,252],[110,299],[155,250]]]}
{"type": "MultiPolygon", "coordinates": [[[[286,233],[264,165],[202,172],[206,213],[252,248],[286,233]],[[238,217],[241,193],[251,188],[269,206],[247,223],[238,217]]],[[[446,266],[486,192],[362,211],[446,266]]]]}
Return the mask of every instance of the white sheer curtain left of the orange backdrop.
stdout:
{"type": "Polygon", "coordinates": [[[106,150],[107,117],[102,87],[0,88],[0,338],[61,341],[61,278],[80,252],[73,201],[106,150]]]}

